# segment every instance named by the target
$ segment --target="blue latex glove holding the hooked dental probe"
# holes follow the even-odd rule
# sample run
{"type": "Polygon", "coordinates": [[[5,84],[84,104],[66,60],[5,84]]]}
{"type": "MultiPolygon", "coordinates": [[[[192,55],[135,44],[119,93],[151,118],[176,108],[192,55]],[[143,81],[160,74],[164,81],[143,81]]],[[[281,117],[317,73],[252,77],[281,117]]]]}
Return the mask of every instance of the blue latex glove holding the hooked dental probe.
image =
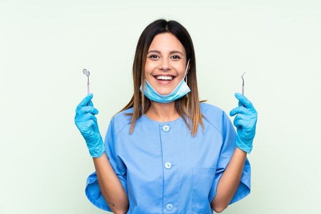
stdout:
{"type": "Polygon", "coordinates": [[[233,124],[236,127],[236,146],[248,153],[251,152],[255,135],[257,112],[252,103],[242,94],[235,93],[239,100],[238,107],[230,111],[230,116],[234,116],[233,124]]]}

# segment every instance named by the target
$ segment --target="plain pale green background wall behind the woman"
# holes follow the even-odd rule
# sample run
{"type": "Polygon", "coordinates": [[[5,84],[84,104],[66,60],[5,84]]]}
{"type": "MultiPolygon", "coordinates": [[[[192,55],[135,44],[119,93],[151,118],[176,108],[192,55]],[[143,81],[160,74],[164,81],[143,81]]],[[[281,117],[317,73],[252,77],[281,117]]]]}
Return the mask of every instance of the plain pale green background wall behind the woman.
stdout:
{"type": "MultiPolygon", "coordinates": [[[[138,37],[176,20],[196,51],[200,99],[258,112],[251,193],[223,213],[321,213],[320,1],[0,0],[0,213],[106,213],[74,125],[90,72],[99,129],[132,95],[138,37]]],[[[233,118],[231,118],[233,121],[233,118]]]]}

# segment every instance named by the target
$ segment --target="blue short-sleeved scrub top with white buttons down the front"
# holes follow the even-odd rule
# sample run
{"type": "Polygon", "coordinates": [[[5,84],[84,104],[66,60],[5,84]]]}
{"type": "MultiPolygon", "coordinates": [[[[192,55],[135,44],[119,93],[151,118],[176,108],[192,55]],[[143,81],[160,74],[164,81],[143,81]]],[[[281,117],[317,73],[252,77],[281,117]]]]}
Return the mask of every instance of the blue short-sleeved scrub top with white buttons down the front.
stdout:
{"type": "MultiPolygon", "coordinates": [[[[145,114],[129,134],[133,108],[116,114],[110,121],[106,154],[129,200],[128,214],[213,213],[210,206],[220,177],[235,150],[236,132],[220,108],[200,103],[208,120],[198,125],[191,137],[182,118],[156,122],[145,114]]],[[[230,204],[250,193],[251,167],[246,158],[238,189],[230,204]]],[[[96,172],[90,174],[86,196],[98,208],[111,211],[98,186],[96,172]]]]}

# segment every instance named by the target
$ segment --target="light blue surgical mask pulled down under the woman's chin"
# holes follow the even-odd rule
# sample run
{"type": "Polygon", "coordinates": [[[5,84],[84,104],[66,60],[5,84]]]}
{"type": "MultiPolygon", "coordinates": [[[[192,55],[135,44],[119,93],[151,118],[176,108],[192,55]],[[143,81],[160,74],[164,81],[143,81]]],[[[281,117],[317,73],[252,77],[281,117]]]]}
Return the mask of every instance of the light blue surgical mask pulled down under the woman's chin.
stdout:
{"type": "MultiPolygon", "coordinates": [[[[191,91],[191,89],[188,87],[187,85],[187,76],[186,76],[186,72],[187,72],[187,68],[188,68],[188,64],[189,64],[190,60],[188,60],[187,62],[187,66],[185,69],[185,74],[183,77],[183,80],[180,81],[178,83],[178,85],[174,88],[174,90],[172,92],[170,92],[169,94],[160,94],[158,93],[150,84],[149,82],[145,79],[145,85],[144,85],[144,94],[145,96],[147,96],[150,100],[158,102],[158,103],[169,103],[172,102],[174,100],[177,100],[179,98],[182,98],[182,96],[184,96],[185,94],[187,94],[188,92],[191,91]],[[186,82],[184,81],[186,76],[186,82]]],[[[142,91],[142,85],[139,88],[139,90],[142,91]]]]}

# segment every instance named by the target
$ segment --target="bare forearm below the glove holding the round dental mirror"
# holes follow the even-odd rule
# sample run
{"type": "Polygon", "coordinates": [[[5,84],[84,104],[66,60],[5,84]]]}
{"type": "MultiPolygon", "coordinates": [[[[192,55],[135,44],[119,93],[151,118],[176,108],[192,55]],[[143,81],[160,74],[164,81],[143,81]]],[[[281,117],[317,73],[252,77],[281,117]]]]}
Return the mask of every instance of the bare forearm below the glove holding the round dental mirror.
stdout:
{"type": "Polygon", "coordinates": [[[115,214],[126,213],[129,209],[127,194],[115,174],[106,153],[99,158],[93,158],[99,188],[105,201],[115,214]]]}

